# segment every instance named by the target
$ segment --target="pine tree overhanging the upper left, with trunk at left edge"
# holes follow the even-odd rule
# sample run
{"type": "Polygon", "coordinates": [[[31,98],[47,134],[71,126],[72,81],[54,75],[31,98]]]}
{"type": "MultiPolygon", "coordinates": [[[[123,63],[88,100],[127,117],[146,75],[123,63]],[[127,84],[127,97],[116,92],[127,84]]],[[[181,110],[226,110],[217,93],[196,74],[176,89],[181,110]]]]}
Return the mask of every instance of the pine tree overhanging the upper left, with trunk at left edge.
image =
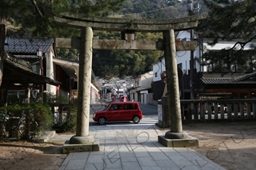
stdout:
{"type": "Polygon", "coordinates": [[[125,0],[2,0],[0,5],[0,85],[2,84],[5,36],[55,38],[75,36],[77,31],[55,25],[44,8],[51,8],[55,15],[79,13],[90,16],[106,16],[122,8],[125,0]],[[8,30],[8,23],[13,26],[8,30]],[[9,31],[9,32],[7,32],[9,31]]]}

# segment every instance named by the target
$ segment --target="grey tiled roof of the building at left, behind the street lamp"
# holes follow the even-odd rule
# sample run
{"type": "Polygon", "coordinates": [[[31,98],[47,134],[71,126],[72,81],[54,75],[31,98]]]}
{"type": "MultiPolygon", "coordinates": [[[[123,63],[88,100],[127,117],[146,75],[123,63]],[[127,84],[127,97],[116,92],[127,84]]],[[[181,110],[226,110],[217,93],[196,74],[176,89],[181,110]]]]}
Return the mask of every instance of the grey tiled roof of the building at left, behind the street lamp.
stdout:
{"type": "Polygon", "coordinates": [[[11,54],[36,54],[38,46],[42,46],[43,53],[52,45],[53,39],[17,39],[11,38],[5,51],[11,54]]]}

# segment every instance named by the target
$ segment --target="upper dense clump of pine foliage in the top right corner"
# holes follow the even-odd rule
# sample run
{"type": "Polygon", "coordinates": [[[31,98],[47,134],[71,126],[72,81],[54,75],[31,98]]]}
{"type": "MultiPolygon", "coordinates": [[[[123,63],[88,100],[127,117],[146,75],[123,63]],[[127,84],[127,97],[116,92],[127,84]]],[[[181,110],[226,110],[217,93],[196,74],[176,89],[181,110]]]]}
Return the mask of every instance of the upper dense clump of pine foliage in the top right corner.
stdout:
{"type": "MultiPolygon", "coordinates": [[[[254,26],[256,24],[254,0],[245,1],[208,1],[204,0],[210,9],[207,20],[200,23],[198,31],[202,36],[218,39],[232,40],[244,39],[245,41],[255,38],[254,26]]],[[[241,43],[241,45],[245,45],[241,43]]]]}

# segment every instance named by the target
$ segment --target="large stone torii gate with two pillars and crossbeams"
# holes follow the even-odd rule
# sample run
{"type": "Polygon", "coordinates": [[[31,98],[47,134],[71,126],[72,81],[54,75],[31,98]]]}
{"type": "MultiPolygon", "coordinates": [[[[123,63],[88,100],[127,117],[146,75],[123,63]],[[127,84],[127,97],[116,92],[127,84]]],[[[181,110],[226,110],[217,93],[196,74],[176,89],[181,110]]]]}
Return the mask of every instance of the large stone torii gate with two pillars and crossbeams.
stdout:
{"type": "Polygon", "coordinates": [[[80,48],[81,50],[78,75],[77,131],[76,135],[71,137],[69,145],[73,147],[78,145],[79,148],[81,145],[90,147],[84,149],[69,148],[67,152],[100,150],[99,143],[89,134],[89,97],[93,49],[163,50],[166,60],[168,107],[171,120],[170,131],[166,132],[165,138],[187,139],[188,134],[182,131],[176,51],[195,50],[197,42],[175,41],[174,32],[193,29],[198,26],[200,20],[204,20],[206,17],[206,14],[168,20],[128,20],[109,17],[84,17],[79,14],[54,17],[58,25],[81,29],[81,39],[56,39],[55,41],[56,48],[80,48]],[[112,40],[93,39],[93,30],[118,31],[121,32],[122,37],[112,40]],[[163,39],[158,41],[136,40],[134,32],[163,32],[163,39]]]}

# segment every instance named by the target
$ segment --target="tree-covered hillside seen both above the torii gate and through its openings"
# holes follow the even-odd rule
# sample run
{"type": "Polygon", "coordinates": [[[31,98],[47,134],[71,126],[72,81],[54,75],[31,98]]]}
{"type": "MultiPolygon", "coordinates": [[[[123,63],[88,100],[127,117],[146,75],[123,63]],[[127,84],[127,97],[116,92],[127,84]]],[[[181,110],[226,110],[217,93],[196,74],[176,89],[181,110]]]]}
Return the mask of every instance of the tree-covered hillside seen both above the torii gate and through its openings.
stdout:
{"type": "MultiPolygon", "coordinates": [[[[201,3],[201,1],[198,1],[201,3]]],[[[204,5],[201,13],[205,12],[204,5]]],[[[129,19],[169,19],[188,17],[188,2],[167,0],[127,0],[122,11],[109,17],[129,19]]],[[[95,32],[99,39],[120,39],[119,32],[95,32]]],[[[162,33],[135,32],[135,39],[163,39],[162,33]]],[[[138,76],[152,70],[152,63],[163,51],[93,51],[93,72],[105,79],[138,76]]]]}

